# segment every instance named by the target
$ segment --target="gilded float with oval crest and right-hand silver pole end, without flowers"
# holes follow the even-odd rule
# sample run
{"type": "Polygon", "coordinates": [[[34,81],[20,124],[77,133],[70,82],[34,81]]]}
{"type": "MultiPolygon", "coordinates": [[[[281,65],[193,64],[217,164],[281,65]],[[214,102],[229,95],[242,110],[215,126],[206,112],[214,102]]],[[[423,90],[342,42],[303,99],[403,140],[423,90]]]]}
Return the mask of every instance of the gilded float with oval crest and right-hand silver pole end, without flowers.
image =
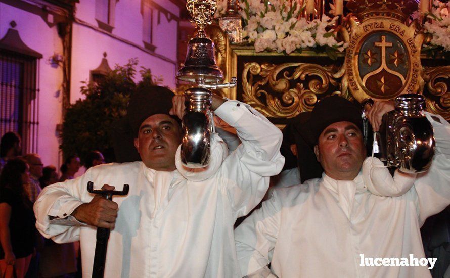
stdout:
{"type": "MultiPolygon", "coordinates": [[[[296,1],[306,7],[301,17],[307,20],[319,19],[324,14],[323,0],[296,1]]],[[[432,126],[422,113],[423,106],[426,103],[427,109],[437,114],[448,111],[442,110],[435,99],[421,94],[425,81],[431,79],[441,88],[439,96],[443,95],[446,85],[442,87],[435,80],[450,74],[427,73],[427,68],[424,70],[422,67],[421,47],[427,36],[421,30],[421,23],[425,18],[421,16],[411,21],[418,3],[415,0],[351,0],[346,5],[351,13],[345,17],[342,1],[337,0],[335,4],[335,15],[339,19],[334,34],[348,47],[329,66],[303,62],[311,61],[305,59],[311,56],[321,58],[307,51],[292,53],[288,62],[283,62],[286,56],[278,53],[265,52],[258,57],[254,48],[245,46],[245,43],[236,44],[242,33],[236,15],[219,18],[223,32],[229,37],[223,51],[227,56],[223,59],[227,74],[242,72],[237,89],[230,97],[243,99],[280,127],[281,119],[312,110],[314,104],[327,95],[338,94],[360,104],[394,100],[395,111],[385,117],[385,124],[377,134],[379,156],[385,164],[398,167],[403,172],[426,171],[431,164],[435,143],[432,126]],[[274,62],[274,58],[280,58],[281,62],[274,62]]],[[[427,12],[429,5],[428,0],[422,0],[421,11],[427,12]]],[[[236,0],[229,0],[228,6],[235,11],[236,0]]],[[[428,90],[433,92],[431,84],[428,84],[428,90]]],[[[445,115],[442,116],[447,118],[445,115]]]]}

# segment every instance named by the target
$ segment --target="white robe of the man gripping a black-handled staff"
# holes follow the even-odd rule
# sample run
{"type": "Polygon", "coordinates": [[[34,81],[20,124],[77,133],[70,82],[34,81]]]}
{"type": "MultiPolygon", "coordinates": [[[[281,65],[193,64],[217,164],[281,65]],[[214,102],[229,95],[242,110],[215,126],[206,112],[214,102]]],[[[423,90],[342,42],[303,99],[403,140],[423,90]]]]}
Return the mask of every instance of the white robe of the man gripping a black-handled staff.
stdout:
{"type": "Polygon", "coordinates": [[[42,191],[34,206],[36,227],[56,242],[80,240],[83,276],[89,277],[96,228],[63,218],[91,201],[88,181],[95,188],[107,183],[116,190],[127,183],[127,196],[113,196],[119,210],[109,238],[105,277],[239,276],[233,224],[260,202],[269,176],[281,171],[282,134],[237,101],[222,104],[215,113],[236,128],[242,144],[212,177],[191,181],[177,170],[155,171],[142,162],[93,167],[77,179],[42,191]]]}

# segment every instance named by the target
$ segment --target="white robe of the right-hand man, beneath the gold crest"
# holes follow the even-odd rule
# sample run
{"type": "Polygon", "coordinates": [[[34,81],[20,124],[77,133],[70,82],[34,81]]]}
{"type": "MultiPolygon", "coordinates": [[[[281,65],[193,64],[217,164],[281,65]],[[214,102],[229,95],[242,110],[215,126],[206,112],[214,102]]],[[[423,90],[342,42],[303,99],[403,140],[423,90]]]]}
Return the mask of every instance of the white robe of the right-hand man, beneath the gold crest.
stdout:
{"type": "Polygon", "coordinates": [[[274,191],[235,230],[243,275],[278,277],[430,277],[426,266],[361,266],[365,258],[423,258],[420,227],[450,204],[450,125],[430,115],[436,154],[428,172],[400,197],[327,175],[274,191]],[[253,274],[253,275],[251,275],[253,274]]]}

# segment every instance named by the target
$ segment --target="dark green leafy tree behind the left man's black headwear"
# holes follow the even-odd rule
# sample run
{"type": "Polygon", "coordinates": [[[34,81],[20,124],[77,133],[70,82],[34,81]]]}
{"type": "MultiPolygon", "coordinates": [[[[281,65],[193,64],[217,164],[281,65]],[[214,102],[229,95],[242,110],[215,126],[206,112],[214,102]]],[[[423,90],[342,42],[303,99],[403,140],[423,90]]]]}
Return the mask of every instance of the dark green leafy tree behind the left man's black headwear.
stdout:
{"type": "Polygon", "coordinates": [[[97,83],[83,82],[83,100],[72,104],[66,112],[60,146],[64,157],[77,154],[84,163],[89,151],[99,150],[107,162],[114,162],[111,125],[126,115],[130,98],[142,86],[157,85],[162,78],[152,76],[150,69],[141,67],[142,80],[134,82],[138,59],[130,59],[124,66],[116,65],[108,75],[97,83]]]}

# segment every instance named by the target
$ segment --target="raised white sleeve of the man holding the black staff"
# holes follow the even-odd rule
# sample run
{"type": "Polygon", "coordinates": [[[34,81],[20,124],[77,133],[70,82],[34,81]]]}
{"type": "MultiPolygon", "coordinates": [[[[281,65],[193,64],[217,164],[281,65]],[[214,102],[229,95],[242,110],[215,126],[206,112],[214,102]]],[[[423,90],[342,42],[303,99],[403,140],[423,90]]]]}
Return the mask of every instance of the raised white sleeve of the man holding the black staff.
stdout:
{"type": "Polygon", "coordinates": [[[235,218],[247,215],[264,197],[269,177],[284,165],[282,133],[249,105],[229,100],[214,113],[234,127],[242,142],[222,163],[220,178],[235,218]]]}

